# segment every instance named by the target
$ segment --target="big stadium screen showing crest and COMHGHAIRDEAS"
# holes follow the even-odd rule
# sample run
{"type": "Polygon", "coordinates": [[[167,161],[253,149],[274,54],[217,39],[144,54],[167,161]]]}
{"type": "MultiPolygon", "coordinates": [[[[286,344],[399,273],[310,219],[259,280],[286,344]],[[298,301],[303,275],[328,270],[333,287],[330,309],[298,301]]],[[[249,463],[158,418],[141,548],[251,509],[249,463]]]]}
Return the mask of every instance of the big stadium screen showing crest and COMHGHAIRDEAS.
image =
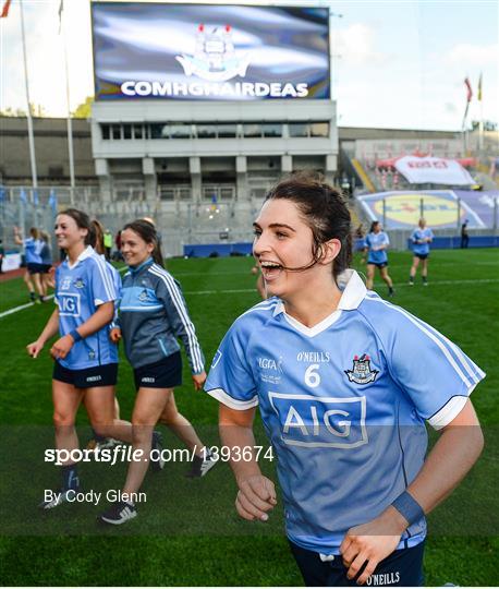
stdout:
{"type": "Polygon", "coordinates": [[[98,100],[328,99],[328,9],[94,2],[98,100]]]}

